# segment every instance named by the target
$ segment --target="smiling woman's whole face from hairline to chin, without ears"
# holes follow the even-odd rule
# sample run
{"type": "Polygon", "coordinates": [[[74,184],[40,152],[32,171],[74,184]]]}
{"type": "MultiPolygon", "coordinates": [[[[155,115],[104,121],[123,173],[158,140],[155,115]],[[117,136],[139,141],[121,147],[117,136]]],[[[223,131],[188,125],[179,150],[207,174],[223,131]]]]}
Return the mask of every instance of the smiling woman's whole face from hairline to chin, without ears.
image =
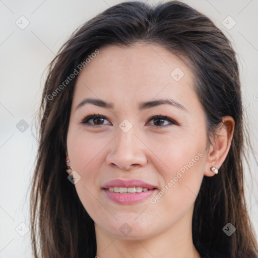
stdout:
{"type": "Polygon", "coordinates": [[[73,96],[67,148],[78,196],[96,228],[115,237],[188,230],[207,158],[194,76],[158,45],[99,50],[73,96]],[[87,121],[92,114],[101,117],[87,121]]]}

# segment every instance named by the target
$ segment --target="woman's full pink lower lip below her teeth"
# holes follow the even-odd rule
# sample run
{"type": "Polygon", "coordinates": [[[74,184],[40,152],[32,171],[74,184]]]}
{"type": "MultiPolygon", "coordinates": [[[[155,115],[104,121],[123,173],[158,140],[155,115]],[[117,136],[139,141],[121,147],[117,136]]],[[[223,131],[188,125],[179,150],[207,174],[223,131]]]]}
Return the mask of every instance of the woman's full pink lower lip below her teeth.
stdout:
{"type": "Polygon", "coordinates": [[[108,189],[103,189],[109,199],[118,204],[134,204],[139,203],[148,197],[150,197],[157,189],[152,189],[148,191],[141,191],[135,193],[117,193],[114,191],[109,191],[108,189]]]}

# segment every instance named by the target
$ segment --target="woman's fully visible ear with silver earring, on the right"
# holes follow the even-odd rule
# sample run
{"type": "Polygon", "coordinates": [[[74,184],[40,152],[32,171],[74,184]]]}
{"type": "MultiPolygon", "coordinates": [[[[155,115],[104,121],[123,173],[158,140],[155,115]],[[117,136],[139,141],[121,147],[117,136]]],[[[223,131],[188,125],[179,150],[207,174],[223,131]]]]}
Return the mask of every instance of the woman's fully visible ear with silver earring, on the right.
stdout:
{"type": "Polygon", "coordinates": [[[207,160],[205,164],[204,175],[215,175],[210,168],[216,167],[218,170],[225,161],[233,138],[235,120],[231,116],[223,116],[223,123],[218,127],[215,136],[211,139],[207,160]]]}

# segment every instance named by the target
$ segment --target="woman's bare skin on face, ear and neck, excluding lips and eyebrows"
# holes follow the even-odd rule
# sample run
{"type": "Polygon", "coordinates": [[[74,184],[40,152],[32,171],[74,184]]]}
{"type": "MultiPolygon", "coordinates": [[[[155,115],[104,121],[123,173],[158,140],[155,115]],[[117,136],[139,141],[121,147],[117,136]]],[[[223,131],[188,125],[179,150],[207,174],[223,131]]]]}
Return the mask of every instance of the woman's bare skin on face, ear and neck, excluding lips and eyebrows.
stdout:
{"type": "MultiPolygon", "coordinates": [[[[224,123],[209,146],[205,112],[192,90],[193,80],[194,75],[179,57],[145,43],[102,48],[80,73],[67,154],[73,171],[81,176],[75,187],[95,222],[100,258],[201,257],[192,243],[193,205],[203,176],[214,176],[210,167],[219,169],[226,158],[234,120],[223,117],[224,123]],[[170,75],[175,68],[184,73],[179,81],[170,75]],[[85,104],[76,109],[84,98],[101,99],[114,107],[85,104]],[[168,104],[138,109],[140,102],[167,98],[187,111],[168,104]],[[93,113],[106,118],[100,124],[95,120],[95,126],[80,123],[93,113]],[[153,115],[167,116],[179,125],[150,120],[153,115]],[[124,119],[133,125],[127,133],[119,127],[124,119]],[[156,203],[147,198],[136,204],[117,204],[101,189],[112,179],[134,178],[157,185],[159,190],[151,196],[155,197],[186,164],[190,168],[156,203]],[[132,229],[127,235],[119,230],[124,223],[132,229]]],[[[89,123],[93,125],[94,120],[89,123]]]]}

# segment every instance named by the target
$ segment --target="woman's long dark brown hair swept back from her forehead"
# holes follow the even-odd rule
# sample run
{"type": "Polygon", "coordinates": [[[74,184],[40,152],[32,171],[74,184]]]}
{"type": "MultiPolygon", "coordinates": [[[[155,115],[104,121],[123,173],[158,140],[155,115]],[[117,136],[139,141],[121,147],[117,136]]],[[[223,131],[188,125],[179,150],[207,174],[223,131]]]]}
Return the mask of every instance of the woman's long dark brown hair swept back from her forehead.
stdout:
{"type": "Polygon", "coordinates": [[[86,66],[85,59],[96,49],[132,46],[138,41],[159,44],[184,58],[196,75],[194,89],[206,113],[207,136],[215,132],[222,116],[235,120],[227,158],[217,176],[204,177],[196,199],[193,244],[204,257],[257,258],[243,191],[245,130],[236,54],[209,18],[177,1],[155,7],[141,2],[110,7],[76,30],[50,63],[39,113],[39,147],[31,191],[34,256],[96,255],[94,221],[66,173],[67,132],[77,77],[66,80],[80,63],[86,66]],[[227,223],[236,228],[231,236],[222,230],[227,223]]]}

